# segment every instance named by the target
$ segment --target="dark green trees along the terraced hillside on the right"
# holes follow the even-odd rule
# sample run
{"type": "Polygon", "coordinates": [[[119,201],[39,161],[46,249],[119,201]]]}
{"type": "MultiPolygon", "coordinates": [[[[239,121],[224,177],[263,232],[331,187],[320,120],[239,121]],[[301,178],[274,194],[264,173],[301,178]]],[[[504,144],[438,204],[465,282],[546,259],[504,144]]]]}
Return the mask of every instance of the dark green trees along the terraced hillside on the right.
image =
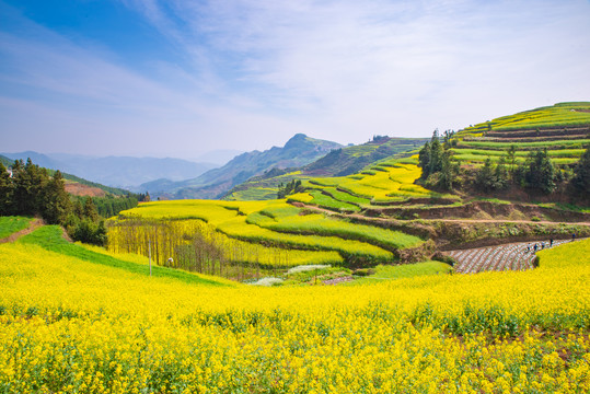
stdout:
{"type": "Polygon", "coordinates": [[[426,186],[447,192],[473,187],[484,193],[520,187],[539,195],[548,195],[563,187],[576,197],[590,194],[590,147],[569,171],[556,167],[546,149],[530,151],[524,161],[517,162],[516,144],[510,146],[497,163],[487,158],[483,166],[467,170],[453,160],[453,142],[452,132],[446,132],[441,143],[438,130],[435,130],[432,139],[419,151],[418,165],[423,169],[421,182],[426,186]]]}

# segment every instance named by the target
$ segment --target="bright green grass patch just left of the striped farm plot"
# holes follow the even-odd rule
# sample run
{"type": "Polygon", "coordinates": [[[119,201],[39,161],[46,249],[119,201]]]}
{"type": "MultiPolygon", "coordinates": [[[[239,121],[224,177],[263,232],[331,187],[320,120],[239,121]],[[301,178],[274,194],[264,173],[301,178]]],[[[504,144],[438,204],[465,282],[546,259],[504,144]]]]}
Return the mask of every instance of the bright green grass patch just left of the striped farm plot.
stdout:
{"type": "Polygon", "coordinates": [[[386,279],[413,278],[426,275],[446,275],[452,271],[452,267],[441,262],[424,262],[404,265],[379,265],[374,274],[355,280],[352,283],[377,283],[386,279]]]}

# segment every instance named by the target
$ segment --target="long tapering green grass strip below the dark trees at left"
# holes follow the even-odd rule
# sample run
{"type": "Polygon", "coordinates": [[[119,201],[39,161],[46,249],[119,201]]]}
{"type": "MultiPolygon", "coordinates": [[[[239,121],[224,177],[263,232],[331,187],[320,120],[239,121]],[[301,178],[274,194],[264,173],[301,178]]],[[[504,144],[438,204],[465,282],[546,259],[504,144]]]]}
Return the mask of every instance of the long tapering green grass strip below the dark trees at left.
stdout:
{"type": "MultiPolygon", "coordinates": [[[[148,264],[139,265],[137,263],[125,262],[105,254],[96,253],[84,248],[82,245],[72,244],[62,236],[59,225],[45,225],[31,234],[19,239],[20,243],[38,245],[47,251],[56,252],[66,256],[76,257],[85,262],[102,264],[108,267],[119,268],[129,273],[149,276],[148,264]]],[[[210,279],[204,279],[197,274],[190,274],[177,269],[164,268],[152,265],[152,276],[159,278],[169,278],[193,285],[206,286],[228,286],[210,279]]]]}

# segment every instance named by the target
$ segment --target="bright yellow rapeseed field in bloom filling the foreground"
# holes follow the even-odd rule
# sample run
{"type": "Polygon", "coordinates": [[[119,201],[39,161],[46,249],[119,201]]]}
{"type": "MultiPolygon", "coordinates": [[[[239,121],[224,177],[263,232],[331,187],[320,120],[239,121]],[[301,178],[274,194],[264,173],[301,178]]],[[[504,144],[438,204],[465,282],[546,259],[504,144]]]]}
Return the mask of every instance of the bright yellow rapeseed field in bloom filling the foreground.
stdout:
{"type": "Polygon", "coordinates": [[[590,241],[531,271],[198,286],[0,245],[1,393],[582,393],[590,241]]]}

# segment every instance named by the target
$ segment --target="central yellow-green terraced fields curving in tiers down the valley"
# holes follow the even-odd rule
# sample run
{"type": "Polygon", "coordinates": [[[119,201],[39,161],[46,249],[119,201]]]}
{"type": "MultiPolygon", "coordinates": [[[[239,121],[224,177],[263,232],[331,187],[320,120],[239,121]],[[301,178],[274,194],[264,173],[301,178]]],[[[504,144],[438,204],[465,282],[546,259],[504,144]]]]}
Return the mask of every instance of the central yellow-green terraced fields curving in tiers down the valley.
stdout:
{"type": "Polygon", "coordinates": [[[205,271],[218,275],[232,274],[228,264],[266,269],[391,264],[398,251],[425,243],[400,231],[309,215],[285,200],[142,204],[108,221],[108,240],[113,252],[148,256],[152,251],[160,265],[172,258],[173,266],[203,271],[199,267],[218,260],[205,271]]]}

